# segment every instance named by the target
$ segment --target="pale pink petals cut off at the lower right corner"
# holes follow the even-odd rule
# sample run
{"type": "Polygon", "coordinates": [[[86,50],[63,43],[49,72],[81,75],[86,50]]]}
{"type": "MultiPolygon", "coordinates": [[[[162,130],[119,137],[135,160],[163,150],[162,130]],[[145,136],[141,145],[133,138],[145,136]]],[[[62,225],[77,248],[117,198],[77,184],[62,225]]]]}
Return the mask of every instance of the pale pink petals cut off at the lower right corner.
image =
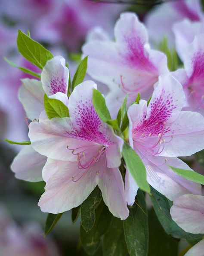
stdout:
{"type": "MultiPolygon", "coordinates": [[[[173,220],[186,232],[204,233],[204,196],[186,194],[173,201],[170,209],[173,220]]],[[[204,239],[193,246],[185,256],[203,255],[204,239]]]]}

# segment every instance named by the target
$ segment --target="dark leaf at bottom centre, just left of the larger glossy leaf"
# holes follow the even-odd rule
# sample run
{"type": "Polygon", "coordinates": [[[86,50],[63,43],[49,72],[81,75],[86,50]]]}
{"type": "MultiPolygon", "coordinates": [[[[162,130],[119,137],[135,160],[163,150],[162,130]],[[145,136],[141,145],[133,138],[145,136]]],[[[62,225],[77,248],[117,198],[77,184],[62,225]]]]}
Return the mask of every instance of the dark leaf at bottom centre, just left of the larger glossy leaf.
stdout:
{"type": "Polygon", "coordinates": [[[103,252],[105,256],[126,256],[123,221],[112,217],[111,224],[103,238],[103,252]]]}

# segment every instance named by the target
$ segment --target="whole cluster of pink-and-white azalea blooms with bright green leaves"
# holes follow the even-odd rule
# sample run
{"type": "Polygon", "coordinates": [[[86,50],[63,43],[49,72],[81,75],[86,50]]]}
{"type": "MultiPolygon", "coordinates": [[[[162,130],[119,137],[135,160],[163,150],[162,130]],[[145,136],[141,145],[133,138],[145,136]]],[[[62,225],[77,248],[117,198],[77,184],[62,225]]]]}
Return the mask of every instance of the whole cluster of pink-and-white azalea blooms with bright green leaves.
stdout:
{"type": "MultiPolygon", "coordinates": [[[[114,40],[102,29],[90,33],[72,83],[65,59],[47,52],[40,80],[22,80],[19,100],[31,121],[30,141],[22,142],[11,169],[19,179],[46,182],[41,211],[78,208],[97,187],[111,214],[128,220],[140,190],[154,190],[173,201],[170,214],[183,230],[204,233],[203,176],[178,158],[204,149],[203,14],[198,5],[181,4],[185,8],[169,4],[176,10],[173,32],[183,61],[176,71],[149,43],[155,16],[146,28],[127,12],[116,22],[114,40]],[[189,20],[182,20],[182,10],[189,20]],[[95,81],[83,82],[86,70],[108,86],[106,96],[95,81]]],[[[201,240],[185,255],[201,255],[203,248],[201,240]]]]}

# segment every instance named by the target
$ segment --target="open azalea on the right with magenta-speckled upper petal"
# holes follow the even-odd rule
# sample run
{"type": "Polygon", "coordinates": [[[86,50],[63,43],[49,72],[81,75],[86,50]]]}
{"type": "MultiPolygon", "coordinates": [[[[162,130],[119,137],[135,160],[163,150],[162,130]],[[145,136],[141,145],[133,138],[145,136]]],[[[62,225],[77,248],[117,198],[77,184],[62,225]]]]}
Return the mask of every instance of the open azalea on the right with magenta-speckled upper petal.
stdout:
{"type": "MultiPolygon", "coordinates": [[[[184,103],[180,83],[164,75],[159,77],[149,105],[140,100],[127,112],[130,145],[146,167],[147,181],[170,200],[189,192],[201,194],[200,184],[178,176],[169,167],[191,170],[177,157],[189,156],[204,147],[204,118],[196,112],[181,112],[184,103]]],[[[137,189],[130,173],[127,175],[126,197],[132,205],[137,189]]]]}

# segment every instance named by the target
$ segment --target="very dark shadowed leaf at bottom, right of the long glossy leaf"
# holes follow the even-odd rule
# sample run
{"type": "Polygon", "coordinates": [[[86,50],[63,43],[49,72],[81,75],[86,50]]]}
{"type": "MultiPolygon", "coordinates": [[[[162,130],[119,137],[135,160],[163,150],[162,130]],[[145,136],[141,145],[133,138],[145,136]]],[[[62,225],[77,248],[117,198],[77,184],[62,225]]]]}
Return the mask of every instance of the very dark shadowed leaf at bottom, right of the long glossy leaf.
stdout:
{"type": "Polygon", "coordinates": [[[148,256],[176,256],[178,252],[178,240],[165,233],[152,208],[148,211],[148,224],[148,256]]]}

